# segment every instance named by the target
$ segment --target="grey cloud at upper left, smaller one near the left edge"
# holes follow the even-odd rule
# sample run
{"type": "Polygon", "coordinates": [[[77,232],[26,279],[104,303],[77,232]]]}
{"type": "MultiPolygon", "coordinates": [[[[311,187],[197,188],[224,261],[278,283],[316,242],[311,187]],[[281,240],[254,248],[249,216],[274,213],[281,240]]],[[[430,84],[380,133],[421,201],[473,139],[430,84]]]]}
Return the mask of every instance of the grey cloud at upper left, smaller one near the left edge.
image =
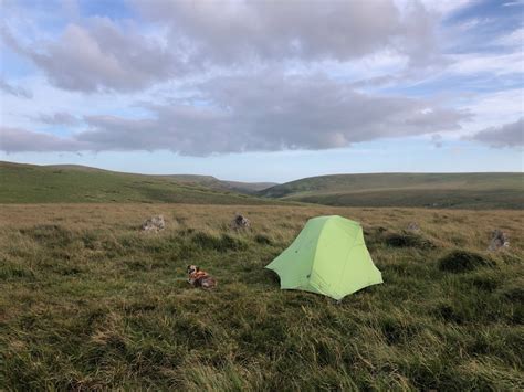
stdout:
{"type": "Polygon", "coordinates": [[[29,56],[56,86],[84,92],[129,92],[172,77],[175,56],[153,38],[123,30],[105,18],[69,24],[57,41],[39,49],[21,45],[6,29],[4,41],[29,56]]]}

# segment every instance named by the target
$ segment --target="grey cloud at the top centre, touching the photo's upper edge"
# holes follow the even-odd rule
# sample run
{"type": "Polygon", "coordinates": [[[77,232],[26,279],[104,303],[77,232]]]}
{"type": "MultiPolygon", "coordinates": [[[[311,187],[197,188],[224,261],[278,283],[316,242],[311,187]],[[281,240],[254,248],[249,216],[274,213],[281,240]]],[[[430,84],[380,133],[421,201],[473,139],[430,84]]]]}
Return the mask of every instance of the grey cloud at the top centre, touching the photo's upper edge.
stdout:
{"type": "Polygon", "coordinates": [[[255,56],[347,61],[390,49],[420,55],[434,17],[419,2],[401,12],[392,0],[135,1],[167,24],[171,42],[195,44],[192,57],[222,64],[255,56]]]}

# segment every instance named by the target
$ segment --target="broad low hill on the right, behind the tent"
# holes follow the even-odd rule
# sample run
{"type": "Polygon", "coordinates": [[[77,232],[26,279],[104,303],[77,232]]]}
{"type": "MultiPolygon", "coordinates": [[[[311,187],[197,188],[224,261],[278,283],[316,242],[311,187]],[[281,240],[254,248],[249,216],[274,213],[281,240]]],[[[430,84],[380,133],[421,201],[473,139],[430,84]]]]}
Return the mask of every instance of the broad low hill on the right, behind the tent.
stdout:
{"type": "Polygon", "coordinates": [[[524,173],[378,173],[305,178],[259,192],[339,206],[523,209],[524,173]]]}

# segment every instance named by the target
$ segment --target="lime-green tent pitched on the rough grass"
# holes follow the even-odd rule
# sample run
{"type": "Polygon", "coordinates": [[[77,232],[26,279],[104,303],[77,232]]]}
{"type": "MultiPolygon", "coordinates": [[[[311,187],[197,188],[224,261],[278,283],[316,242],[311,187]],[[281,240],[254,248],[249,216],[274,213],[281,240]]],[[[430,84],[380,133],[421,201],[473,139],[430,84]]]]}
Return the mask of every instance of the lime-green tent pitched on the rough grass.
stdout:
{"type": "Polygon", "coordinates": [[[291,246],[266,268],[279,274],[281,288],[335,299],[382,283],[364,243],[361,226],[338,215],[307,221],[291,246]]]}

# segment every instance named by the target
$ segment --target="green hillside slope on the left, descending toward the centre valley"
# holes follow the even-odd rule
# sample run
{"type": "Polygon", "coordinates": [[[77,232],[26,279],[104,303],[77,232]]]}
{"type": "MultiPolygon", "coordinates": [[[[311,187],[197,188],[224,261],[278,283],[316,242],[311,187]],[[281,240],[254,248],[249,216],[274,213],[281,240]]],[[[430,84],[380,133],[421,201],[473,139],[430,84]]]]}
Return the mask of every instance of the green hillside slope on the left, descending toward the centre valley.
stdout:
{"type": "Polygon", "coordinates": [[[195,204],[268,204],[256,197],[168,176],[120,173],[81,166],[0,162],[0,203],[168,202],[195,204]]]}

